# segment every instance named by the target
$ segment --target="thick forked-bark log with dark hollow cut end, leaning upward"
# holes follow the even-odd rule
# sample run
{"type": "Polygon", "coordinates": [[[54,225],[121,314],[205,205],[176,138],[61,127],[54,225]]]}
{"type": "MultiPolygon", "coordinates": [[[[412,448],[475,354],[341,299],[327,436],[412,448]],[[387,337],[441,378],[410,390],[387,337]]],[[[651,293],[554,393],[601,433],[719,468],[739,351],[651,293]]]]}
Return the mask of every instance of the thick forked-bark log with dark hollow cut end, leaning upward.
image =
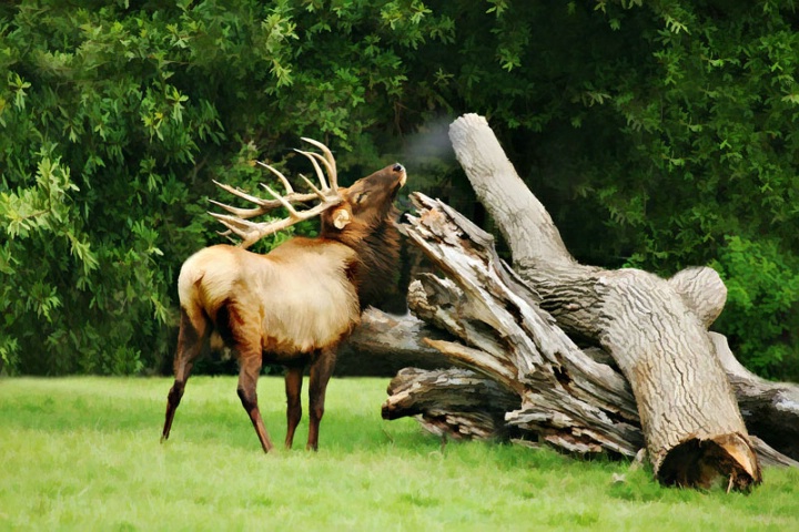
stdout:
{"type": "Polygon", "coordinates": [[[462,116],[449,136],[512,248],[514,269],[536,289],[542,307],[597,341],[627,377],[658,478],[701,485],[718,473],[738,489],[760,482],[747,429],[707,336],[704,321],[712,313],[698,317],[651,274],[578,265],[485,119],[462,116]]]}

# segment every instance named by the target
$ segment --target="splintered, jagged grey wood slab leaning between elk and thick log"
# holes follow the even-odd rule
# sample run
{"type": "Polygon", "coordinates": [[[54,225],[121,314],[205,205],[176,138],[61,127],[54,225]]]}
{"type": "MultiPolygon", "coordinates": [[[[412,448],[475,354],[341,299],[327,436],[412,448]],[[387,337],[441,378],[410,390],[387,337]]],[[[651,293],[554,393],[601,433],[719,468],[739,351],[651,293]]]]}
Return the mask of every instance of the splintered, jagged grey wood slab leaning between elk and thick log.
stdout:
{"type": "Polygon", "coordinates": [[[441,202],[413,197],[419,216],[411,218],[408,237],[448,277],[419,276],[408,305],[459,339],[427,344],[518,398],[520,407],[506,415],[508,428],[570,451],[635,456],[644,442],[624,378],[586,356],[535,305],[537,296],[497,257],[490,235],[441,202]]]}

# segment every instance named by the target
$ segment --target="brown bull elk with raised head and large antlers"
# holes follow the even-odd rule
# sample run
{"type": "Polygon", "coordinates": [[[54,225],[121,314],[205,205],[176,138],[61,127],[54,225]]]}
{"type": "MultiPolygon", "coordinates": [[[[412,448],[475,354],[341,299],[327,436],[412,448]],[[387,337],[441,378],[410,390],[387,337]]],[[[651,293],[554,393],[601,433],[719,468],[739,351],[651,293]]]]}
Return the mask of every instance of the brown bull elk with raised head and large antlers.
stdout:
{"type": "Polygon", "coordinates": [[[257,206],[237,208],[212,202],[231,213],[211,213],[227,227],[223,234],[236,234],[243,242],[237,247],[203,248],[181,268],[174,385],[166,399],[162,442],[169,438],[195,358],[221,340],[239,361],[239,398],[264,452],[273,444],[257,403],[262,365],[286,367],[285,447],[290,449],[302,418],[302,380],[310,364],[307,449],[318,448],[318,426],[336,347],[360,323],[362,310],[382,297],[397,267],[400,235],[393,201],[405,184],[406,173],[395,163],[350,187],[340,187],[331,151],[314,140],[303,141],[322,151],[297,150],[311,161],[318,177],[316,186],[301,174],[312,193],[294,192],[289,180],[265,163],[260,164],[280,178],[285,195],[262,185],[272,196],[263,200],[214,182],[257,206]],[[306,211],[295,208],[295,204],[311,201],[318,204],[306,211]],[[286,218],[271,223],[249,219],[281,206],[289,212],[286,218]],[[260,238],[315,216],[321,218],[317,237],[293,237],[265,255],[246,250],[260,238]]]}

